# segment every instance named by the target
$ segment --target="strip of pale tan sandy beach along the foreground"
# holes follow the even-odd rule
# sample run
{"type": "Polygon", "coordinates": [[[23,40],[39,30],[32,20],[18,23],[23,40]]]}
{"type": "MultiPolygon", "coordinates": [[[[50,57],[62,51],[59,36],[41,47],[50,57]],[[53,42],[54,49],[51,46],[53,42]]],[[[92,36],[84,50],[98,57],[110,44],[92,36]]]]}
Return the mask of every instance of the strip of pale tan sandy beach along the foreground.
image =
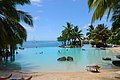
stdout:
{"type": "Polygon", "coordinates": [[[20,71],[0,71],[0,75],[11,78],[28,78],[31,80],[119,80],[120,69],[100,70],[99,73],[90,71],[81,72],[20,72],[20,71]],[[119,71],[119,72],[118,72],[119,71]],[[117,73],[118,72],[118,73],[117,73]],[[86,76],[87,75],[87,76],[86,76]]]}

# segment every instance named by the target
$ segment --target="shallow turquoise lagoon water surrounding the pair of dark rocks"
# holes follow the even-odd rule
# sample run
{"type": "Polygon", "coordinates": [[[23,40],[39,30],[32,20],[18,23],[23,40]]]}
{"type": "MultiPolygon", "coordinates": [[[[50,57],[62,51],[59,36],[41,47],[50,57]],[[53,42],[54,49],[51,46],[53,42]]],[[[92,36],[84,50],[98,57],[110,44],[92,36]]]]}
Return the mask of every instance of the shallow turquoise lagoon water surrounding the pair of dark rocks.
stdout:
{"type": "Polygon", "coordinates": [[[15,62],[13,62],[19,64],[23,71],[78,72],[85,70],[88,65],[101,65],[102,69],[111,69],[114,67],[111,61],[103,61],[102,58],[111,57],[112,60],[116,59],[116,53],[93,48],[91,45],[84,45],[81,48],[60,48],[57,47],[60,45],[58,42],[37,42],[43,44],[43,46],[38,46],[36,42],[32,43],[31,45],[30,42],[25,43],[23,45],[24,50],[18,49],[15,62]],[[71,56],[74,60],[57,61],[59,57],[63,56],[71,56]]]}

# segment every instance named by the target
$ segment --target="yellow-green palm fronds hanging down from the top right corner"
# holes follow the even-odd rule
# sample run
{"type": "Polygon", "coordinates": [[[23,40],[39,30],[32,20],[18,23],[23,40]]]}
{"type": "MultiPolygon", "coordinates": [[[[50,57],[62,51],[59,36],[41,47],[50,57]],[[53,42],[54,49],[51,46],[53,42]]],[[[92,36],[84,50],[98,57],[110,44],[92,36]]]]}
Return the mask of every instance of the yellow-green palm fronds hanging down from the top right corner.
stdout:
{"type": "Polygon", "coordinates": [[[104,13],[107,11],[107,19],[111,11],[116,9],[117,4],[120,0],[88,0],[89,11],[95,8],[92,16],[92,23],[103,17],[104,13]]]}

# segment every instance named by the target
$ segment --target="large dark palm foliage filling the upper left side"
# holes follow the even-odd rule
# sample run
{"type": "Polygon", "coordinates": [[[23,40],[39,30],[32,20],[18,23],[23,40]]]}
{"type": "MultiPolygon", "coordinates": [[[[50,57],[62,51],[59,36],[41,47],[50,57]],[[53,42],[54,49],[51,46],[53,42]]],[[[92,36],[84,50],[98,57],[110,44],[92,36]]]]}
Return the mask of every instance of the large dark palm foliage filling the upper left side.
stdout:
{"type": "Polygon", "coordinates": [[[29,3],[29,0],[0,1],[0,50],[10,46],[11,53],[13,53],[16,45],[26,40],[26,30],[20,21],[33,26],[32,17],[27,12],[17,10],[16,5],[29,3]]]}

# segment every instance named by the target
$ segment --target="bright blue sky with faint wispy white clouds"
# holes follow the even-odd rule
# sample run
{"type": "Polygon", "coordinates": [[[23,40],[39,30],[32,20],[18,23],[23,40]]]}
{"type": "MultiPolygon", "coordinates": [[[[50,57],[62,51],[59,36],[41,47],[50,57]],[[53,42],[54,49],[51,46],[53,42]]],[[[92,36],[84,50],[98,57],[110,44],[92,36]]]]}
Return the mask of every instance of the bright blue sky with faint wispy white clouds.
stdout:
{"type": "MultiPolygon", "coordinates": [[[[28,12],[33,17],[33,27],[21,22],[27,30],[27,40],[57,40],[67,22],[79,26],[82,33],[86,35],[93,14],[93,10],[89,12],[87,0],[30,1],[30,5],[17,6],[17,9],[28,12]]],[[[106,15],[93,25],[102,23],[111,27],[111,22],[106,22],[106,15]]]]}

